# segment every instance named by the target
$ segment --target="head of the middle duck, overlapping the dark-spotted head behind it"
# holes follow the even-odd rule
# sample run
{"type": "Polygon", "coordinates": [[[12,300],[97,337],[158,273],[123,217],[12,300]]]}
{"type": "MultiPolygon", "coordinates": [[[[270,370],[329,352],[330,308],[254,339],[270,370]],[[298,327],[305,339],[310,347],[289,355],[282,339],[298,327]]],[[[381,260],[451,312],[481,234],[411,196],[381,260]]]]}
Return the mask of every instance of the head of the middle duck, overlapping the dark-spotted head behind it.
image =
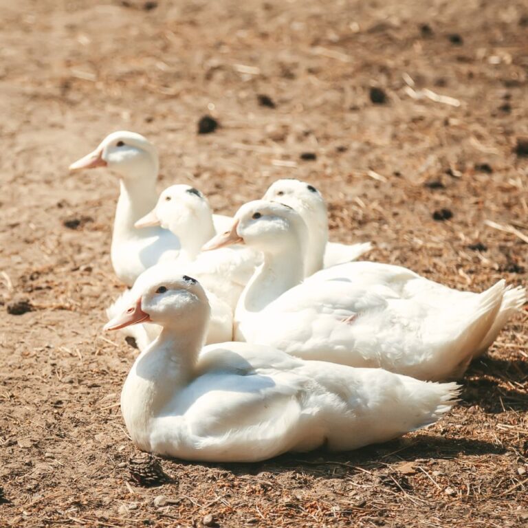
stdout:
{"type": "Polygon", "coordinates": [[[215,236],[202,250],[247,244],[269,254],[295,248],[299,244],[304,247],[307,239],[307,226],[302,217],[283,203],[250,201],[236,212],[233,220],[229,231],[215,236]]]}

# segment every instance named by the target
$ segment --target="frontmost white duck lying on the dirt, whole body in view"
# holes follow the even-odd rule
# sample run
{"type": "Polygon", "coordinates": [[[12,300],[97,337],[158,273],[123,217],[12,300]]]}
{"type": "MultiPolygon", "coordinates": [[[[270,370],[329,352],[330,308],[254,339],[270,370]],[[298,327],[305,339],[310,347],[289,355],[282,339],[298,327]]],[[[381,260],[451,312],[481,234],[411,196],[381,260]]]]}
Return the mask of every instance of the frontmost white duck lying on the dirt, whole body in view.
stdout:
{"type": "Polygon", "coordinates": [[[151,280],[135,303],[106,326],[151,320],[163,327],[121,393],[126,428],[141,450],[214,462],[350,450],[426,426],[455,401],[452,383],[303,361],[255,344],[202,349],[209,306],[199,283],[146,274],[151,280]]]}

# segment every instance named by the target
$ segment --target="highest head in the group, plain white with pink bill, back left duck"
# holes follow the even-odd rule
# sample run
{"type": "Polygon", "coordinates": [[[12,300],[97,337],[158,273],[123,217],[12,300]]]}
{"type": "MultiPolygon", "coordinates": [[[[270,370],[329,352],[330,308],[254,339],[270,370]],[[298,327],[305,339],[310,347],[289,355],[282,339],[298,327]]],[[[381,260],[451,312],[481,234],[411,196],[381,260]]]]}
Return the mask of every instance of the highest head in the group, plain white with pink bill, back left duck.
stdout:
{"type": "Polygon", "coordinates": [[[157,152],[146,137],[128,131],[113,132],[91,153],[69,166],[70,171],[107,167],[123,179],[157,177],[157,152]]]}

